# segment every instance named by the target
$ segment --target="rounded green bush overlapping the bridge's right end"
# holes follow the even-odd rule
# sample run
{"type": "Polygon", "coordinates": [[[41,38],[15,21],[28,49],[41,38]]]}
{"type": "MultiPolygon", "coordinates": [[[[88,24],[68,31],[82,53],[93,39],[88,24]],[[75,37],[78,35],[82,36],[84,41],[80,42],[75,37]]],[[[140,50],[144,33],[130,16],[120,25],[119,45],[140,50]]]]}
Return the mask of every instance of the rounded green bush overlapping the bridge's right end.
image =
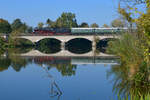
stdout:
{"type": "Polygon", "coordinates": [[[107,52],[119,56],[122,62],[138,66],[145,58],[145,43],[136,34],[124,34],[120,40],[109,43],[107,52]]]}

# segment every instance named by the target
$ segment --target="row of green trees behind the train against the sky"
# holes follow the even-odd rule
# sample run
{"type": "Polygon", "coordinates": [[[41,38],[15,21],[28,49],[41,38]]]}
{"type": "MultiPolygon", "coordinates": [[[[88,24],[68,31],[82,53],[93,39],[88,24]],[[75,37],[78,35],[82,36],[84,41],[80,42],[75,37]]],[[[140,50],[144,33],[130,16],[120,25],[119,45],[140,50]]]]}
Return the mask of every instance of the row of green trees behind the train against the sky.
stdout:
{"type": "MultiPolygon", "coordinates": [[[[126,24],[121,19],[115,19],[111,22],[111,25],[104,24],[102,27],[125,27],[126,24]]],[[[76,15],[71,12],[64,12],[56,21],[47,19],[45,22],[39,22],[37,27],[50,27],[50,28],[72,28],[72,27],[83,27],[83,28],[98,28],[97,23],[89,25],[87,22],[82,22],[81,24],[77,23],[76,15]]],[[[5,19],[0,19],[0,33],[31,33],[33,27],[27,25],[25,22],[22,22],[21,19],[15,19],[12,23],[9,23],[5,19]]]]}

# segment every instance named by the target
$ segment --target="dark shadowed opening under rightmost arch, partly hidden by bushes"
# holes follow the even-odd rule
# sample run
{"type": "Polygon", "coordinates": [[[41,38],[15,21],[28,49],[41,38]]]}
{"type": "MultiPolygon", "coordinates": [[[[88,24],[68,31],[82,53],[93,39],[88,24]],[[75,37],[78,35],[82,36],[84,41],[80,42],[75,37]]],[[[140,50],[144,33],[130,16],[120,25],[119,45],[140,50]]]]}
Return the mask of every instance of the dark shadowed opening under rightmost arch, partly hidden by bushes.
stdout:
{"type": "Polygon", "coordinates": [[[104,54],[107,54],[106,49],[108,47],[108,43],[110,41],[116,41],[116,40],[118,40],[118,39],[117,38],[105,38],[105,39],[99,40],[99,42],[97,42],[97,44],[96,44],[96,50],[98,50],[99,52],[102,52],[104,54]]]}

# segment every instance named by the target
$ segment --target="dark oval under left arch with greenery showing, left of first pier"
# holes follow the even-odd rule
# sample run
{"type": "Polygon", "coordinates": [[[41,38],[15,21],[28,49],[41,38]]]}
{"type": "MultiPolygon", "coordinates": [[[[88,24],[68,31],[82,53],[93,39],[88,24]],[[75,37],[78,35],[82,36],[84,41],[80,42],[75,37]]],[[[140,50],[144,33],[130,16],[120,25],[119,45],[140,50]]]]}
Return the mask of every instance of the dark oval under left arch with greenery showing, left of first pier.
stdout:
{"type": "Polygon", "coordinates": [[[54,54],[61,51],[61,41],[55,38],[44,38],[36,42],[38,51],[45,54],[54,54]]]}

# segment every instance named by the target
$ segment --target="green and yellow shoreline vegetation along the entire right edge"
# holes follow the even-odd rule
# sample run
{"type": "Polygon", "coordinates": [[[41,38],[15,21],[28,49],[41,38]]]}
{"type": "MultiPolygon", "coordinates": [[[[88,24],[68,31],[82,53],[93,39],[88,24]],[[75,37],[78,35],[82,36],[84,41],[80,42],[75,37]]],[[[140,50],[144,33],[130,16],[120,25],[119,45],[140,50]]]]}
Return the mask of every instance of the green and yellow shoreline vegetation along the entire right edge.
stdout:
{"type": "Polygon", "coordinates": [[[120,66],[108,71],[108,76],[115,75],[113,91],[118,100],[150,100],[150,0],[120,0],[118,12],[137,32],[109,42],[107,52],[121,59],[120,66]],[[144,5],[144,12],[139,5],[144,5]]]}

